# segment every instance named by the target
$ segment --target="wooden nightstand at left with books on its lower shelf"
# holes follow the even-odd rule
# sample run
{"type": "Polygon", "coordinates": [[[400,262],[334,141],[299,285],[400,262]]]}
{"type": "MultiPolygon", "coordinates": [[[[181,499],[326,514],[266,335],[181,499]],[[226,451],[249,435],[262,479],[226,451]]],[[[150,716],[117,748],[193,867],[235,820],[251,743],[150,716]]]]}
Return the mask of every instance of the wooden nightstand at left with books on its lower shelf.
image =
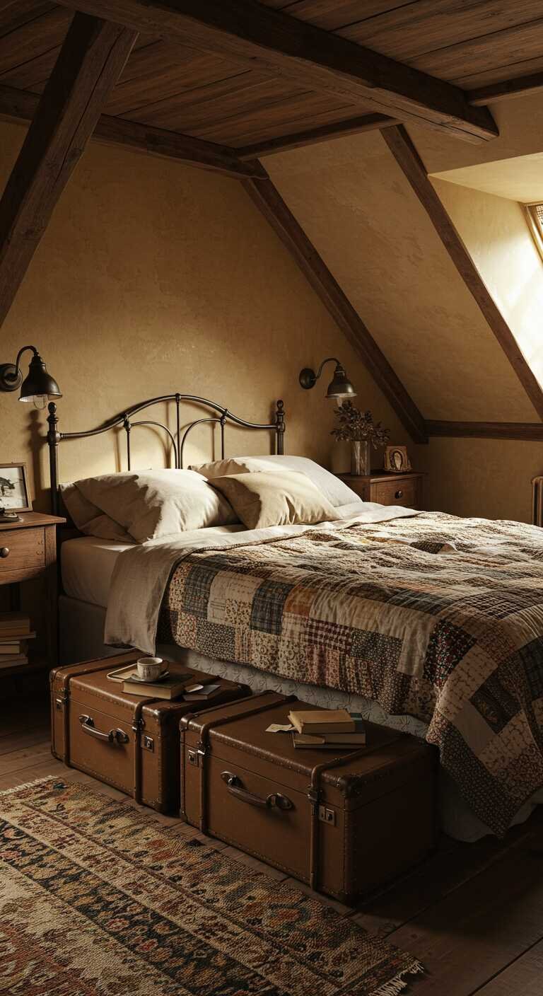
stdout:
{"type": "MultiPolygon", "coordinates": [[[[56,515],[22,512],[21,522],[0,523],[0,585],[13,585],[11,604],[19,608],[19,584],[43,578],[45,584],[45,646],[38,649],[28,664],[16,664],[0,670],[0,678],[23,674],[58,664],[57,642],[57,526],[66,522],[56,515]]],[[[40,645],[41,644],[41,645],[40,645]]]]}

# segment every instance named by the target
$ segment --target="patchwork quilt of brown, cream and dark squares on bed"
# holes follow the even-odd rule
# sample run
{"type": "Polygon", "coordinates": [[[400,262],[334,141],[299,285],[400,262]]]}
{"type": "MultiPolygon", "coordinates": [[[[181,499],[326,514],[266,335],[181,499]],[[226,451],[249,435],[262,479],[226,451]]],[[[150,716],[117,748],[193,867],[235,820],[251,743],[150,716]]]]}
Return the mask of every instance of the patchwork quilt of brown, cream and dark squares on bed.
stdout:
{"type": "Polygon", "coordinates": [[[423,513],[190,553],[160,629],[181,646],[429,723],[501,836],[543,786],[543,530],[423,513]]]}

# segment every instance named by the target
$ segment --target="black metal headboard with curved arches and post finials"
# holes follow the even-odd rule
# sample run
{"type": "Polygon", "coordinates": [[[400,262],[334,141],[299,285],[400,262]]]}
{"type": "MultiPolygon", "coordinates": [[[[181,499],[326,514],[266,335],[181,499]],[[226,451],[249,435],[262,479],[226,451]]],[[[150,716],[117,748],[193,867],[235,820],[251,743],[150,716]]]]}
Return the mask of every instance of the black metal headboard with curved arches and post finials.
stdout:
{"type": "Polygon", "coordinates": [[[232,422],[234,425],[241,425],[243,428],[247,429],[272,429],[276,436],[276,451],[277,453],[284,453],[284,437],[285,437],[285,411],[283,401],[277,401],[277,406],[275,409],[275,420],[269,424],[261,424],[259,422],[248,422],[245,418],[238,418],[237,415],[232,414],[228,408],[225,408],[222,404],[217,404],[216,401],[209,401],[206,397],[198,397],[196,394],[162,394],[161,397],[150,397],[146,401],[140,401],[139,404],[133,404],[132,407],[127,408],[119,415],[115,415],[108,421],[99,425],[96,429],[88,429],[86,432],[59,432],[58,423],[59,418],[57,415],[57,405],[54,401],[51,401],[49,405],[49,417],[47,419],[49,423],[49,431],[47,433],[47,444],[49,446],[49,467],[51,476],[51,504],[53,508],[53,513],[56,514],[59,509],[59,464],[58,464],[58,447],[59,443],[63,439],[86,439],[88,436],[100,435],[102,432],[109,432],[111,429],[115,429],[120,425],[123,426],[127,433],[127,463],[128,469],[131,470],[131,432],[136,425],[155,425],[158,428],[164,430],[167,433],[169,440],[171,442],[171,448],[173,450],[175,467],[182,468],[183,465],[183,451],[186,442],[186,437],[191,429],[195,425],[201,425],[203,422],[217,422],[220,425],[220,452],[221,459],[224,458],[224,427],[227,422],[232,422]],[[144,408],[149,408],[152,404],[162,404],[165,401],[175,402],[175,433],[173,433],[167,425],[163,422],[152,421],[150,419],[139,419],[138,421],[132,421],[132,416],[136,415],[138,411],[142,411],[144,408]],[[204,408],[208,408],[214,412],[212,415],[208,415],[205,418],[196,418],[194,421],[188,423],[188,425],[183,428],[181,434],[181,424],[179,415],[179,405],[181,401],[191,401],[195,404],[200,404],[204,408]]]}

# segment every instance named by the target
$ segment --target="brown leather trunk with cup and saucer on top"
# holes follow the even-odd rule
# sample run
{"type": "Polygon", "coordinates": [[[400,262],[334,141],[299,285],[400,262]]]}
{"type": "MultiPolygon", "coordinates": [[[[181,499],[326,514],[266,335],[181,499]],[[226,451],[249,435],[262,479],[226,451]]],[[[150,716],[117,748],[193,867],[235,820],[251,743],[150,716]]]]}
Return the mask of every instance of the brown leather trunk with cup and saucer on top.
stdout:
{"type": "MultiPolygon", "coordinates": [[[[124,694],[108,674],[140,655],[131,651],[51,671],[51,750],[60,761],[114,785],[136,802],[159,813],[177,813],[179,719],[198,706],[124,694]]],[[[178,664],[169,669],[194,681],[210,677],[178,664]]],[[[221,685],[215,703],[251,694],[248,685],[213,676],[215,680],[221,685]]]]}

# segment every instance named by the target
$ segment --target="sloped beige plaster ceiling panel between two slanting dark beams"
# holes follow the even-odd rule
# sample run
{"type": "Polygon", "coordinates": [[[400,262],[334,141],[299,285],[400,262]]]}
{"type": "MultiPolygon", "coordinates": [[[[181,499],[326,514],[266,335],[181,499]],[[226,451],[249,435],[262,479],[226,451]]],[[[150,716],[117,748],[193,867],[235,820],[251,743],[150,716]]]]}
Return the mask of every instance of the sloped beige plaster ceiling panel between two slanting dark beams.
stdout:
{"type": "Polygon", "coordinates": [[[538,418],[379,132],[266,167],[425,418],[538,418]]]}

